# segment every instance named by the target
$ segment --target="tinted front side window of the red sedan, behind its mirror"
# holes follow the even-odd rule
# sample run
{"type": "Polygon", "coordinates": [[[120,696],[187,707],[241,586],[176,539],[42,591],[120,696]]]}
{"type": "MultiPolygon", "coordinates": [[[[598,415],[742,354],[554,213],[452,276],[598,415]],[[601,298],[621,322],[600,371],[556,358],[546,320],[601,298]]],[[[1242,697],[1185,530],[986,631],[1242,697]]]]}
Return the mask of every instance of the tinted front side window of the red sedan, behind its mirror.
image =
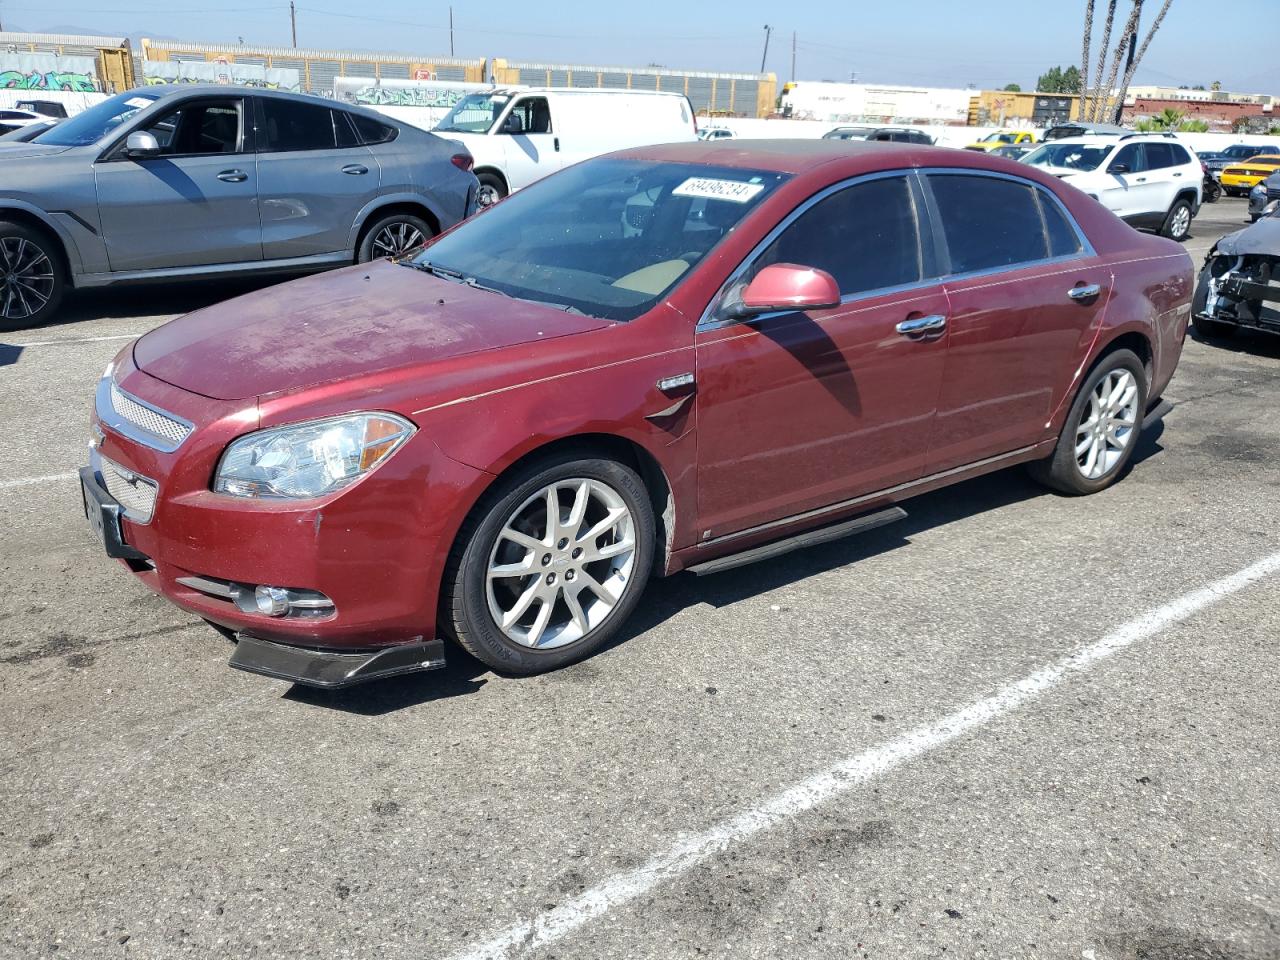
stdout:
{"type": "Polygon", "coordinates": [[[846,297],[919,280],[920,230],[906,178],[865,180],[819,200],[754,266],[769,264],[826,270],[846,297]]]}

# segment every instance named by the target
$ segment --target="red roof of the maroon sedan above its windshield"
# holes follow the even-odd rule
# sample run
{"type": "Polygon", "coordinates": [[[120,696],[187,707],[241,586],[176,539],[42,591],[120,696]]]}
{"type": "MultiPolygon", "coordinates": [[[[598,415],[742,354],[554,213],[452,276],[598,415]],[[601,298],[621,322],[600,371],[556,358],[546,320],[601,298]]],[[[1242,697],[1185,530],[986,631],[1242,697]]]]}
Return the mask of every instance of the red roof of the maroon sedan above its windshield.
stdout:
{"type": "MultiPolygon", "coordinates": [[[[630,160],[655,160],[659,163],[707,164],[708,166],[735,166],[771,173],[800,174],[838,160],[852,161],[868,170],[884,166],[951,165],[956,154],[964,151],[931,147],[923,143],[895,143],[886,141],[847,140],[745,140],[710,143],[659,143],[632,147],[613,156],[630,160]]],[[[969,151],[970,154],[973,151],[969,151]]]]}

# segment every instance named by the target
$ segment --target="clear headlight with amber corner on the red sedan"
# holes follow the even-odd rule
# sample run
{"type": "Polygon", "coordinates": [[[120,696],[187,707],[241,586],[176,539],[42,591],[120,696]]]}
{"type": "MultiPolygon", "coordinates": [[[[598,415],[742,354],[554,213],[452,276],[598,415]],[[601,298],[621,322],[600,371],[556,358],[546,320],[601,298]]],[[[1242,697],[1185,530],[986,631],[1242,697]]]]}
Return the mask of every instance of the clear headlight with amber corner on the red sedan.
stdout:
{"type": "Polygon", "coordinates": [[[260,430],[227,448],[214,490],[232,497],[323,497],[378,467],[413,430],[394,413],[351,413],[260,430]]]}

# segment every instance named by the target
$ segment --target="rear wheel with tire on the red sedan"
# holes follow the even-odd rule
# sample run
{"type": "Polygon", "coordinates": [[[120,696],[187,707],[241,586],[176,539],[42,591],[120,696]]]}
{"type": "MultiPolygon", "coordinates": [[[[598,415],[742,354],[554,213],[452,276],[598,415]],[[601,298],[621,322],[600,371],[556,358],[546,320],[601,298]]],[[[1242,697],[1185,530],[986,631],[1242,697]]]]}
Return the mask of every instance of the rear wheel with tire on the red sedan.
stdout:
{"type": "Polygon", "coordinates": [[[1114,484],[1133,457],[1147,410],[1147,371],[1133,351],[1102,357],[1080,385],[1052,456],[1032,476],[1059,493],[1082,495],[1114,484]]]}

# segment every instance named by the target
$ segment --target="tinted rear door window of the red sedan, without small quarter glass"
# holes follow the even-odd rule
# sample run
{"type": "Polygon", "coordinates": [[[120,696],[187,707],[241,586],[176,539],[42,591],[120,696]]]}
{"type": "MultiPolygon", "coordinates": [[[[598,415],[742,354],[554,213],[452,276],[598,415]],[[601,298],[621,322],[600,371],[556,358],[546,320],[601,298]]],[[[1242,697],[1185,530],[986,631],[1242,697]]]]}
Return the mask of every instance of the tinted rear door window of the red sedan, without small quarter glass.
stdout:
{"type": "Polygon", "coordinates": [[[995,270],[1048,257],[1036,188],[995,177],[931,174],[951,273],[995,270]]]}

